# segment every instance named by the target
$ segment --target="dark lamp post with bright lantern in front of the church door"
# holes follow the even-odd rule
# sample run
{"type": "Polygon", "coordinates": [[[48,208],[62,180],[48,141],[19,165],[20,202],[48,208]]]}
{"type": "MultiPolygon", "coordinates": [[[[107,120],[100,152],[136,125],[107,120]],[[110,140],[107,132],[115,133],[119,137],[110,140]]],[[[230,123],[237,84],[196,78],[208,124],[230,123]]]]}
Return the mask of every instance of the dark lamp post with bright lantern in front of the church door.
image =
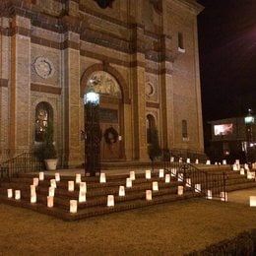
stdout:
{"type": "Polygon", "coordinates": [[[96,176],[100,172],[99,94],[95,92],[96,80],[84,95],[85,105],[85,175],[96,176]]]}

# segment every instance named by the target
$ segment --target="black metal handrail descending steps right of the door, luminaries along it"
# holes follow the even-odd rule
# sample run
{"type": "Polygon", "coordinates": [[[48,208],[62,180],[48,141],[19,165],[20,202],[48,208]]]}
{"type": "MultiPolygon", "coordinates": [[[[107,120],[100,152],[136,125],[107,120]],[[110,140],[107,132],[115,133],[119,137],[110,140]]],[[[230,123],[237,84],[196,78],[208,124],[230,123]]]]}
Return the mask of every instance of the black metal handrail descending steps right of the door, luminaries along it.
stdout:
{"type": "Polygon", "coordinates": [[[190,163],[175,160],[171,162],[169,160],[162,160],[161,163],[165,173],[175,176],[183,183],[184,187],[190,187],[195,193],[201,193],[206,198],[226,201],[225,184],[227,177],[224,171],[213,173],[198,169],[190,163]]]}

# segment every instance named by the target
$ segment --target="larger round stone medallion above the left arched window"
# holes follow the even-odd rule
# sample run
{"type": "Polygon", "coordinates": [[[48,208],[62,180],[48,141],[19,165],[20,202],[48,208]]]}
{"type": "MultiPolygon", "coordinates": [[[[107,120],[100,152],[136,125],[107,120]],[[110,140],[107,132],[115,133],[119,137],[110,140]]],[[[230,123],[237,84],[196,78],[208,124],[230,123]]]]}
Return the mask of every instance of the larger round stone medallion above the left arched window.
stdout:
{"type": "Polygon", "coordinates": [[[52,77],[55,72],[53,63],[46,57],[37,57],[33,62],[33,68],[35,73],[43,79],[52,77]]]}

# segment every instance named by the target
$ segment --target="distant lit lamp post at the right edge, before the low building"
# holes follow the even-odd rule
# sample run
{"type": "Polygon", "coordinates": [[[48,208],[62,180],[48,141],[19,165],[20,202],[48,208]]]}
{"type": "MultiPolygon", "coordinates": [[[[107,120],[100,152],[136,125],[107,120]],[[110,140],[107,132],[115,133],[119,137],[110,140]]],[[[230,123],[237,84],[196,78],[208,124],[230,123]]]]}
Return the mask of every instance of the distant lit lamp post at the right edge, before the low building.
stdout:
{"type": "Polygon", "coordinates": [[[252,110],[248,109],[248,114],[244,117],[245,129],[246,129],[246,143],[245,143],[245,153],[246,161],[251,160],[252,147],[254,146],[253,141],[253,124],[254,117],[252,115],[252,110]]]}

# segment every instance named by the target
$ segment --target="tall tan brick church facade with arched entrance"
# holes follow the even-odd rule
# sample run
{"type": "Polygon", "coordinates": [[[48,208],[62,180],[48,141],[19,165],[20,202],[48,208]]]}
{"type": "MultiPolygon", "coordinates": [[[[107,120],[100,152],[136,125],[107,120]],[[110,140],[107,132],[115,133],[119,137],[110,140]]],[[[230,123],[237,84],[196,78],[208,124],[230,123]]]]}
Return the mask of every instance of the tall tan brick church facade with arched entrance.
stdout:
{"type": "Polygon", "coordinates": [[[84,160],[85,90],[100,93],[101,160],[160,147],[204,153],[195,0],[2,0],[0,149],[31,151],[49,118],[68,165],[84,160]],[[37,126],[38,127],[37,127],[37,126]]]}

